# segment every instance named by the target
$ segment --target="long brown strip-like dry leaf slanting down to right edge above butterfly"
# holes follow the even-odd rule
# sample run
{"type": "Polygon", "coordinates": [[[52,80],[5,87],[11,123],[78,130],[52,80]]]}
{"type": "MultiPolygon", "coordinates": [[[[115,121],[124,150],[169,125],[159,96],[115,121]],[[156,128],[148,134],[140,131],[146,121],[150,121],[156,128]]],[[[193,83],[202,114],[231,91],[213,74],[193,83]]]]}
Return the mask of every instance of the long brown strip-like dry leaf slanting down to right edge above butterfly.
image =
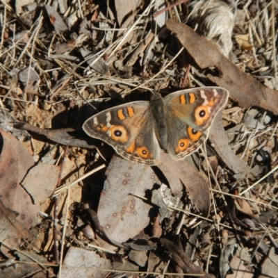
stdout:
{"type": "Polygon", "coordinates": [[[202,70],[215,67],[218,74],[207,74],[208,79],[229,90],[229,97],[243,108],[259,106],[278,115],[278,94],[266,88],[252,76],[242,72],[234,63],[222,55],[213,42],[197,35],[185,24],[174,19],[166,21],[167,28],[177,34],[179,42],[202,70]],[[204,51],[206,49],[206,51],[204,51]]]}

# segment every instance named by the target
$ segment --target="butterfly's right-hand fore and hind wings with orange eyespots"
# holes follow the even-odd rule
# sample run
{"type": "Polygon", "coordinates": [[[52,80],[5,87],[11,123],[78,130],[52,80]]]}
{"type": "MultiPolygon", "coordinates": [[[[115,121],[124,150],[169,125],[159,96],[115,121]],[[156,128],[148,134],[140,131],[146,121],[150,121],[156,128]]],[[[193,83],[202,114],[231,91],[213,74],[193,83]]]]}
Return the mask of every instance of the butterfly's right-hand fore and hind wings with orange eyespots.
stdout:
{"type": "Polygon", "coordinates": [[[164,98],[167,113],[167,152],[182,159],[195,152],[208,135],[215,115],[226,104],[229,92],[223,88],[205,87],[173,92],[164,98]]]}

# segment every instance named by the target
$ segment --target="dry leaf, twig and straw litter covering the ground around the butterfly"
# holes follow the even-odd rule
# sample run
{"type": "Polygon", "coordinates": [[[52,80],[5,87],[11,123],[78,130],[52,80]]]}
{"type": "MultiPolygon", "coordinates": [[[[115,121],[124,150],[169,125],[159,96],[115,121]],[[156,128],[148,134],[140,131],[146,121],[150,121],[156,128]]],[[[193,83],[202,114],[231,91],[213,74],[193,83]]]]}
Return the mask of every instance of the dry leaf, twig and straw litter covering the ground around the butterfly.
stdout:
{"type": "Polygon", "coordinates": [[[0,276],[273,277],[276,1],[123,3],[0,3],[0,276]],[[230,101],[186,161],[131,164],[80,129],[202,85],[230,101]]]}

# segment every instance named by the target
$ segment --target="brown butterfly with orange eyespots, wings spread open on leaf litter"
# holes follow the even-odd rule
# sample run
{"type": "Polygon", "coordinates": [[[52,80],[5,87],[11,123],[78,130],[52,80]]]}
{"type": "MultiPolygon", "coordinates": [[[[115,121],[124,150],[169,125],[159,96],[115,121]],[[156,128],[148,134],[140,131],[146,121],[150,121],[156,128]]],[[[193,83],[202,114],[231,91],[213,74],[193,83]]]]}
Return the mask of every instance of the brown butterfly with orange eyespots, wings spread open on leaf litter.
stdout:
{"type": "Polygon", "coordinates": [[[176,161],[197,151],[229,92],[190,88],[150,101],[133,101],[93,115],[83,124],[88,136],[103,140],[134,163],[156,165],[160,149],[176,161]]]}

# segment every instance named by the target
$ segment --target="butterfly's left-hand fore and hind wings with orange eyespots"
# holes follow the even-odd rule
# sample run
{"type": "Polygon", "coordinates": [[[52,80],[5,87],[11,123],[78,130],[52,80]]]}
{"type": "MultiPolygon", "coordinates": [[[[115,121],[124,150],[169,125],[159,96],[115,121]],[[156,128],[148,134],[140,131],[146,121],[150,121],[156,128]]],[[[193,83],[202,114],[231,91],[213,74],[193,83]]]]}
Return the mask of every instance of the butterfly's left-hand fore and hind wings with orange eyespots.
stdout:
{"type": "Polygon", "coordinates": [[[85,121],[83,129],[111,145],[123,158],[154,165],[159,146],[151,117],[149,101],[133,101],[97,113],[85,121]]]}

